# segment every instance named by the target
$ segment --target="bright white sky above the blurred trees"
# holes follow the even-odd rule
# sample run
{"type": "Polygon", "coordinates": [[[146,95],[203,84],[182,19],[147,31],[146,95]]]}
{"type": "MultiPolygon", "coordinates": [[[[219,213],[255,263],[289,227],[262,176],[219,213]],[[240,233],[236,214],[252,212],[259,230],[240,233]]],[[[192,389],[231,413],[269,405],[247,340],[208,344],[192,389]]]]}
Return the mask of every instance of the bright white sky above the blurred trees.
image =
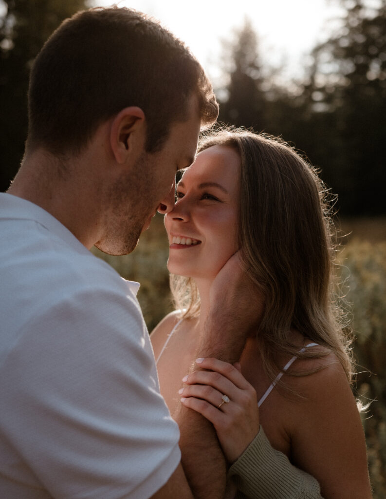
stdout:
{"type": "MultiPolygon", "coordinates": [[[[110,0],[92,0],[110,5],[110,0]]],[[[221,39],[248,16],[259,36],[260,53],[271,65],[286,63],[288,76],[302,74],[307,53],[327,37],[340,12],[338,0],[116,0],[146,12],[192,49],[208,75],[217,80],[221,39]]],[[[214,82],[214,81],[213,81],[214,82]]]]}

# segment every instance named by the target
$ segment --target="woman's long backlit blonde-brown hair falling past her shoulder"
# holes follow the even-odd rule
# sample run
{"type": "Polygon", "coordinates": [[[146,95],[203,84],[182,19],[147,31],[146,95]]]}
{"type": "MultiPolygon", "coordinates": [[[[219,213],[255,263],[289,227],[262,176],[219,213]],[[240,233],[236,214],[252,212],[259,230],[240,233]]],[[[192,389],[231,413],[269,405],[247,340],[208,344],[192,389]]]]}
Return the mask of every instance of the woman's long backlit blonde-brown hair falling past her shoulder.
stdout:
{"type": "MultiPolygon", "coordinates": [[[[336,295],[328,190],[316,170],[279,138],[219,128],[202,137],[198,151],[214,145],[232,148],[241,160],[237,248],[266,299],[257,340],[268,376],[274,379],[282,367],[278,354],[319,357],[332,351],[351,382],[351,339],[336,295]],[[291,329],[325,349],[299,353],[291,329]]],[[[172,275],[171,289],[185,317],[199,314],[192,278],[172,275]]]]}

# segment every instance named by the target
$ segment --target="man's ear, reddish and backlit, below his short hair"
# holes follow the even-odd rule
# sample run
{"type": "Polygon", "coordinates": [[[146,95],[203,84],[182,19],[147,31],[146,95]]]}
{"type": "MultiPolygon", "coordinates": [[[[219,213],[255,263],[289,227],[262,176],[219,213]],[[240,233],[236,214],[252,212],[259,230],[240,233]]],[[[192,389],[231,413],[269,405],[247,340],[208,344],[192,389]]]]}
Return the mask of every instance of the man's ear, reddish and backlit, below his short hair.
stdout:
{"type": "Polygon", "coordinates": [[[125,107],[113,119],[110,128],[110,147],[117,163],[125,163],[136,148],[144,147],[145,113],[140,107],[125,107]]]}

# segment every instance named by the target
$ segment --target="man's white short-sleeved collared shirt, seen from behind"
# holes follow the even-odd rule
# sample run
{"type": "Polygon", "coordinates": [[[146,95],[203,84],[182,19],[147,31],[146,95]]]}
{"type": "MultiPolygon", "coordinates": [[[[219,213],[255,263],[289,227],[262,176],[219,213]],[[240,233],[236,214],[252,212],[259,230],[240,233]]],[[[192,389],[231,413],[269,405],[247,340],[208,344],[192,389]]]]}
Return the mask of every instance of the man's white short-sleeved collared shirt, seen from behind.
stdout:
{"type": "Polygon", "coordinates": [[[9,194],[0,278],[0,497],[152,496],[181,455],[139,284],[9,194]]]}

